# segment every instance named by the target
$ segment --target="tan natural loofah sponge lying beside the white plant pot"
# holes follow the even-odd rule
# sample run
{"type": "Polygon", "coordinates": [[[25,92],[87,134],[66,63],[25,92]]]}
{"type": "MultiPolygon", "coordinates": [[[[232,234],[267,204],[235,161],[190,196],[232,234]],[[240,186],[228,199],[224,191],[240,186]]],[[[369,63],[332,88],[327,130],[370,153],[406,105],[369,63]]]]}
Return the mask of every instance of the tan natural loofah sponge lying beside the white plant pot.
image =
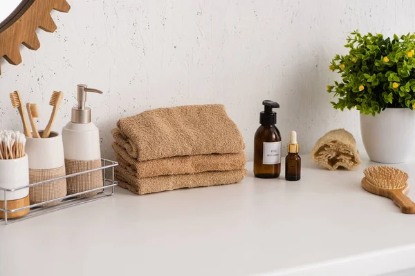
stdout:
{"type": "Polygon", "coordinates": [[[311,159],[329,170],[338,167],[351,170],[362,163],[356,149],[356,140],[344,129],[331,130],[318,139],[311,150],[311,159]]]}

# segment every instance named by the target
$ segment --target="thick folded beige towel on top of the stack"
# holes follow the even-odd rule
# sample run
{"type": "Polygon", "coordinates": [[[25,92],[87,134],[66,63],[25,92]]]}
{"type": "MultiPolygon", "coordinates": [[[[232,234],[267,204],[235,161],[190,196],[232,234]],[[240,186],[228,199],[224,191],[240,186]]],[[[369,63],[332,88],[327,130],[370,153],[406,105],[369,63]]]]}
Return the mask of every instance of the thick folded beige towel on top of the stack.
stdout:
{"type": "Polygon", "coordinates": [[[174,156],[239,153],[241,132],[219,104],[147,110],[120,119],[114,139],[137,161],[174,156]]]}

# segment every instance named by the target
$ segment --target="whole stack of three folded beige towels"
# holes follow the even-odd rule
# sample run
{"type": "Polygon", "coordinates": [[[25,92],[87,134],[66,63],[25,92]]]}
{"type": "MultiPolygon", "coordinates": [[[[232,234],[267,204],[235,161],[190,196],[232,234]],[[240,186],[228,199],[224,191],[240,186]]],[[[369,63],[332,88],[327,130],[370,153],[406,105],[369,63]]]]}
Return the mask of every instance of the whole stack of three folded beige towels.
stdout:
{"type": "Polygon", "coordinates": [[[111,130],[119,186],[137,195],[233,184],[246,175],[241,132],[222,105],[148,110],[111,130]]]}

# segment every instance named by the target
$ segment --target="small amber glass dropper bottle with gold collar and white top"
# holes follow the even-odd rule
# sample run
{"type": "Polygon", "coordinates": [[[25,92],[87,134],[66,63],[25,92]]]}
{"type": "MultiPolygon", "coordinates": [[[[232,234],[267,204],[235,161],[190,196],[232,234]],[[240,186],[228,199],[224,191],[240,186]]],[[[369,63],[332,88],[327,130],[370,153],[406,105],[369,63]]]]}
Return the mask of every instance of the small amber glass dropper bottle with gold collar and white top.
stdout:
{"type": "Polygon", "coordinates": [[[286,157],[286,180],[297,181],[301,178],[301,157],[298,155],[297,132],[291,131],[286,157]]]}

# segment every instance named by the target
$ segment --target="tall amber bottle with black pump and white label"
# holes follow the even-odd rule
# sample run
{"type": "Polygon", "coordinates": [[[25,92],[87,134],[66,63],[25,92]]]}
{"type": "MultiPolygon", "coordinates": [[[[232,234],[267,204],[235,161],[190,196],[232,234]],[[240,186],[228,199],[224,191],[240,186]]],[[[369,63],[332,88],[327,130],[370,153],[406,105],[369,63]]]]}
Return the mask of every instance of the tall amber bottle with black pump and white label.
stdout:
{"type": "Polygon", "coordinates": [[[277,123],[279,108],[275,101],[263,101],[264,111],[259,115],[259,128],[254,139],[254,175],[259,178],[275,178],[281,173],[281,135],[277,123]]]}

